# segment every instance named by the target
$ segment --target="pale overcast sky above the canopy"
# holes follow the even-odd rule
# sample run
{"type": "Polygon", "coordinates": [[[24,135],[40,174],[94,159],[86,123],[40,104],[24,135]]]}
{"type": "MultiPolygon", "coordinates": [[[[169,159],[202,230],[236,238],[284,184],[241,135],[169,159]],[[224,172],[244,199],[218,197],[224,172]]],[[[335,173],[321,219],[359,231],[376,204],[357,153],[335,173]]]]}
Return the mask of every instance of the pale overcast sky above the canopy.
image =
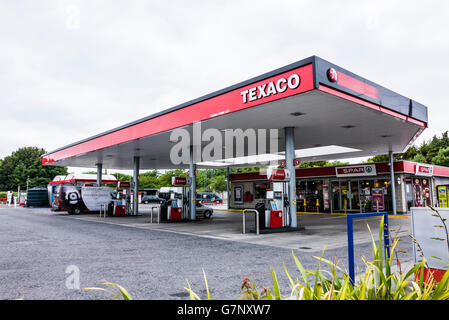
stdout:
{"type": "Polygon", "coordinates": [[[448,21],[443,0],[0,0],[0,158],[311,55],[428,106],[419,143],[448,130],[448,21]]]}

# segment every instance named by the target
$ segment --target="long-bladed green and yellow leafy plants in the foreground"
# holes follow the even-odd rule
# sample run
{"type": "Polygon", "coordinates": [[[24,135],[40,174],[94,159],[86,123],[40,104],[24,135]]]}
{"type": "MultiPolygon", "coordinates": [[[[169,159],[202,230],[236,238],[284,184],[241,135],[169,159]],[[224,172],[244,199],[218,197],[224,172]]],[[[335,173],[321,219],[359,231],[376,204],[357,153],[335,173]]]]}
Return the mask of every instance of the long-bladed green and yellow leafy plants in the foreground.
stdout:
{"type": "MultiPolygon", "coordinates": [[[[248,278],[244,278],[241,286],[242,294],[238,299],[449,300],[449,271],[444,274],[439,283],[436,283],[433,277],[424,278],[424,269],[428,268],[425,258],[405,273],[392,272],[394,251],[399,240],[393,240],[390,255],[386,255],[386,248],[382,246],[383,224],[384,221],[382,218],[378,243],[376,243],[371,230],[369,230],[372,239],[373,261],[363,259],[365,272],[360,274],[358,281],[354,285],[351,283],[348,273],[338,266],[338,261],[324,259],[323,255],[321,257],[314,257],[318,260],[318,268],[316,270],[307,270],[292,251],[292,257],[301,280],[293,278],[285,263],[283,263],[284,271],[289,281],[289,295],[284,296],[281,294],[276,272],[271,268],[273,290],[264,286],[261,292],[258,293],[254,282],[248,278]],[[328,265],[330,271],[321,269],[321,263],[328,265]],[[417,279],[411,280],[417,274],[419,275],[417,279]]],[[[204,270],[203,275],[206,282],[208,299],[210,299],[204,270]]],[[[188,285],[189,288],[186,288],[186,290],[190,293],[190,298],[199,299],[199,296],[192,291],[189,283],[188,285]]]]}

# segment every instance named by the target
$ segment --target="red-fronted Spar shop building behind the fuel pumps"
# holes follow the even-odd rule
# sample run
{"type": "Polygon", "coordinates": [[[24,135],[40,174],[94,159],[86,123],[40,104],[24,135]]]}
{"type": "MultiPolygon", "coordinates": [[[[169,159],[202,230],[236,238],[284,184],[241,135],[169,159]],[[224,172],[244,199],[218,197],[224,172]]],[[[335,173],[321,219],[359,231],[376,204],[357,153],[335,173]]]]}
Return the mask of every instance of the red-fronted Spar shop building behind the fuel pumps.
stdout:
{"type": "MultiPolygon", "coordinates": [[[[298,212],[393,212],[390,164],[365,163],[296,169],[298,212]]],[[[449,168],[412,161],[394,161],[396,211],[411,207],[447,207],[449,168]]],[[[230,208],[255,208],[273,190],[264,173],[230,175],[230,208]],[[241,189],[236,192],[235,189],[241,189]],[[247,195],[236,197],[236,194],[247,195]]]]}

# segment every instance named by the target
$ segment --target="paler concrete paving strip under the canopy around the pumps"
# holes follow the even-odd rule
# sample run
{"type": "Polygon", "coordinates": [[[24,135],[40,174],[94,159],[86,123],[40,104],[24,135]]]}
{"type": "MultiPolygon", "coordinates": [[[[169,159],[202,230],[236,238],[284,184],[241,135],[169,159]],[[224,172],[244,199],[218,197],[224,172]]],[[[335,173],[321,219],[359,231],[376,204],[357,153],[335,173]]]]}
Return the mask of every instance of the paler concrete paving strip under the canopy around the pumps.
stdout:
{"type": "MultiPolygon", "coordinates": [[[[226,210],[215,208],[211,219],[198,219],[196,221],[183,221],[176,223],[157,223],[158,209],[153,211],[151,221],[151,205],[142,205],[139,216],[130,217],[103,217],[98,214],[61,215],[74,219],[96,221],[100,223],[118,224],[127,227],[161,230],[198,237],[238,241],[243,243],[259,244],[291,250],[320,251],[324,248],[333,249],[347,245],[346,215],[344,214],[311,214],[298,213],[298,221],[305,226],[304,231],[271,233],[256,236],[254,214],[246,215],[245,230],[243,234],[243,216],[241,210],[226,210]]],[[[57,213],[56,213],[57,214],[57,213]]],[[[390,216],[391,229],[399,236],[411,233],[409,216],[390,216]],[[397,219],[394,219],[394,218],[397,219]],[[397,232],[395,232],[397,230],[397,232]]],[[[356,242],[363,243],[371,240],[366,224],[371,230],[377,230],[379,218],[364,219],[356,222],[356,242]]]]}

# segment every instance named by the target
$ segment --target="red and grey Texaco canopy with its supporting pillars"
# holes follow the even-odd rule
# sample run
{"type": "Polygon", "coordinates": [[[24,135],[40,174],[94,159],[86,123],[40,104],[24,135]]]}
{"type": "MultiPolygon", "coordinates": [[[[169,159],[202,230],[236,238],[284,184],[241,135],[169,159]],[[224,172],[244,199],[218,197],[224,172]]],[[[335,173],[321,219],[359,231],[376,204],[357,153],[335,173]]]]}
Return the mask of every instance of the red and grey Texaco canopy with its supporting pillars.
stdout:
{"type": "MultiPolygon", "coordinates": [[[[285,159],[290,171],[289,227],[296,228],[295,158],[307,162],[390,154],[392,159],[411,146],[427,121],[426,106],[312,56],[69,144],[43,155],[41,161],[42,165],[96,166],[98,183],[102,168],[133,169],[135,194],[141,169],[189,169],[193,191],[189,218],[195,220],[197,168],[250,167],[260,165],[260,159],[285,159]],[[195,140],[198,124],[204,132],[270,130],[270,150],[259,141],[257,148],[247,142],[244,156],[233,145],[213,161],[204,161],[195,150],[207,148],[210,140],[201,136],[203,131],[202,138],[195,140]],[[174,164],[170,156],[174,146],[170,136],[176,129],[194,136],[187,163],[174,164]],[[272,135],[273,130],[278,134],[272,135]]],[[[133,214],[137,213],[136,202],[133,214]]]]}

